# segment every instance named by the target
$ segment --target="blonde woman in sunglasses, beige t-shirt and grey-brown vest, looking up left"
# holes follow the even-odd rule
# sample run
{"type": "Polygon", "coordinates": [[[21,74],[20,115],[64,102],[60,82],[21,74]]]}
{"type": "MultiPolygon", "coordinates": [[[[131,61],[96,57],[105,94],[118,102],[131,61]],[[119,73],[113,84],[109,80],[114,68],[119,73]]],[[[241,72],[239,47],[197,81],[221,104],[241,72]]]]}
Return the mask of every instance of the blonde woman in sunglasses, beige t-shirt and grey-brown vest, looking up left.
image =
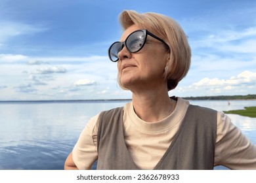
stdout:
{"type": "Polygon", "coordinates": [[[190,67],[190,46],[177,22],[156,13],[125,10],[124,33],[108,56],[117,61],[131,103],[91,118],[64,169],[256,169],[256,148],[209,108],[169,97],[190,67]]]}

